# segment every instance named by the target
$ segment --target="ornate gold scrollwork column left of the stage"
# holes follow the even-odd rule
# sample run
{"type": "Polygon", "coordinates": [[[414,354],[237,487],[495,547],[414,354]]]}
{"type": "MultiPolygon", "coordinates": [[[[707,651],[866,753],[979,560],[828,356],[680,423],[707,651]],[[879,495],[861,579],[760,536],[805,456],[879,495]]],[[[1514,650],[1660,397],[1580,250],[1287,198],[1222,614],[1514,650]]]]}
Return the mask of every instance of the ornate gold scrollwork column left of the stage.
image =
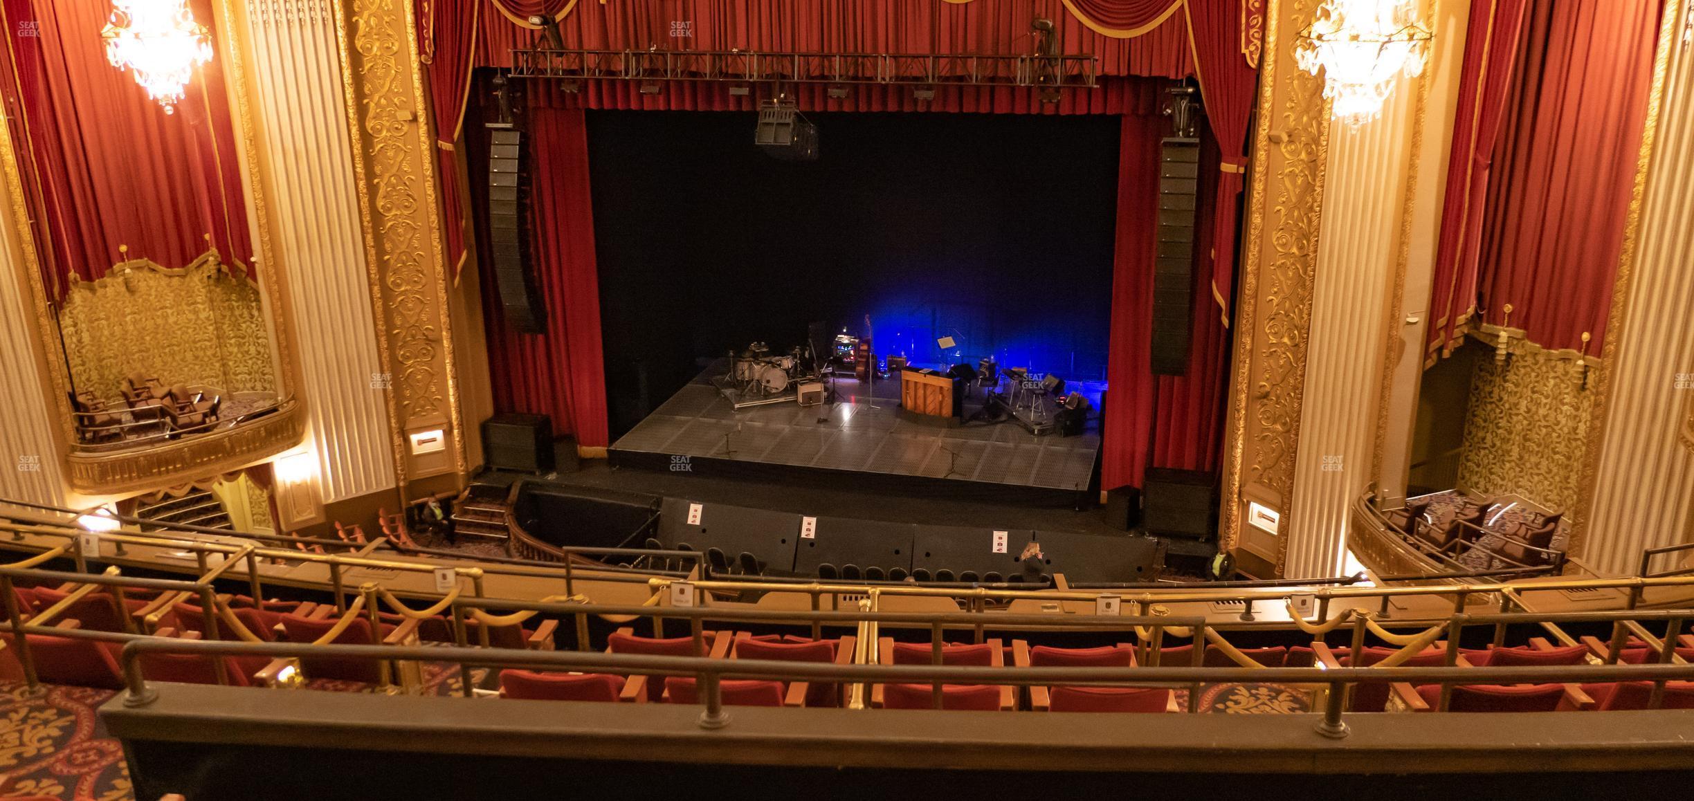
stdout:
{"type": "Polygon", "coordinates": [[[335,0],[335,29],[395,472],[403,491],[430,476],[462,483],[464,422],[412,3],[335,0]],[[444,447],[412,445],[429,435],[444,447]]]}

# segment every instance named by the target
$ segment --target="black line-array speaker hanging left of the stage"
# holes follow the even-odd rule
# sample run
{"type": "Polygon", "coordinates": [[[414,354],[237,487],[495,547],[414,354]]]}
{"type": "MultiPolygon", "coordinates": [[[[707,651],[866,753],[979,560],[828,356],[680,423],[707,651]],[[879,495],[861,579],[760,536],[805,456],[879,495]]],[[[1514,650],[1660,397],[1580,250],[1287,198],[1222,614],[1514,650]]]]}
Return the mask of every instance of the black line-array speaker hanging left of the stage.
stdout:
{"type": "Polygon", "coordinates": [[[535,286],[529,230],[529,164],[523,132],[512,124],[488,124],[488,242],[495,286],[507,323],[523,334],[545,334],[547,303],[535,286]]]}

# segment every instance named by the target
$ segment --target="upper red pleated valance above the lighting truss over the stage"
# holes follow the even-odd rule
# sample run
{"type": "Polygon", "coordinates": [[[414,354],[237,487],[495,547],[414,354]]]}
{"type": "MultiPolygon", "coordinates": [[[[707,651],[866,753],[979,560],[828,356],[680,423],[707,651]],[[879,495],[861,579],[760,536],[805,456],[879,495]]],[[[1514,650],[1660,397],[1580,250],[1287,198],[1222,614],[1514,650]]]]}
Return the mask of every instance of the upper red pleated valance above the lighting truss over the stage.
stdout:
{"type": "MultiPolygon", "coordinates": [[[[1147,0],[1127,2],[1142,5],[1147,0]]],[[[1084,5],[1098,5],[1098,0],[1084,5]]],[[[1176,5],[1162,0],[1160,10],[1176,5]]],[[[1054,22],[1060,52],[1094,56],[1098,75],[1182,78],[1193,71],[1181,14],[1169,14],[1145,36],[1113,39],[1091,30],[1052,0],[579,2],[561,20],[561,34],[566,47],[610,51],[1032,54],[1030,20],[1035,17],[1054,22]]],[[[512,49],[532,47],[537,36],[501,14],[484,14],[481,27],[478,66],[512,66],[512,49]]]]}

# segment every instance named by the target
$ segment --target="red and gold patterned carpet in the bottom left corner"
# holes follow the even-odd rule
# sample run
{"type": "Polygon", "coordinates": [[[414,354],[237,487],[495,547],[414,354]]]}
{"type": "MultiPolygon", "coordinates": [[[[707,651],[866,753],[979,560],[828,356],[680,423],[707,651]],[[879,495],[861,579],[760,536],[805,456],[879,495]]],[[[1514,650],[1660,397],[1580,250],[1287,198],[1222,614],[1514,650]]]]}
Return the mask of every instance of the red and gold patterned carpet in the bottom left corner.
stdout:
{"type": "Polygon", "coordinates": [[[134,798],[124,749],[95,713],[113,694],[47,686],[30,698],[24,684],[0,684],[0,798],[134,798]]]}

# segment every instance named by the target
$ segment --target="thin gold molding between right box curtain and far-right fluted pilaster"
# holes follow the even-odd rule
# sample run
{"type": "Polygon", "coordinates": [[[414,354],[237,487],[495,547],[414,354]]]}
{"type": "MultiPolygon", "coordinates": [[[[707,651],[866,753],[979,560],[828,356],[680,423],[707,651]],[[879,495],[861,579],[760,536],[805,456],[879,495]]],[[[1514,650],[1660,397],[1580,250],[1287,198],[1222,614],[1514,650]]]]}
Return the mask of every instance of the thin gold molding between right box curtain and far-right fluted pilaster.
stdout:
{"type": "MultiPolygon", "coordinates": [[[[1647,125],[1641,130],[1641,149],[1635,163],[1635,188],[1630,195],[1630,212],[1623,225],[1623,249],[1618,254],[1618,276],[1611,288],[1611,312],[1606,318],[1606,344],[1601,351],[1599,374],[1594,378],[1594,403],[1589,413],[1587,439],[1584,442],[1582,493],[1577,494],[1572,508],[1570,540],[1567,550],[1581,557],[1587,539],[1589,506],[1594,503],[1594,476],[1599,472],[1601,442],[1606,439],[1606,410],[1611,406],[1611,371],[1618,364],[1618,347],[1623,345],[1625,323],[1630,318],[1630,279],[1635,274],[1635,252],[1641,235],[1641,203],[1647,198],[1647,174],[1653,163],[1653,144],[1658,139],[1658,113],[1665,105],[1665,75],[1670,71],[1670,49],[1686,46],[1682,20],[1686,0],[1665,0],[1664,17],[1658,20],[1658,44],[1653,52],[1653,86],[1647,98],[1647,125]]],[[[1636,347],[1652,347],[1636,344],[1636,347]]],[[[1694,427],[1694,410],[1689,425],[1694,427]]]]}

